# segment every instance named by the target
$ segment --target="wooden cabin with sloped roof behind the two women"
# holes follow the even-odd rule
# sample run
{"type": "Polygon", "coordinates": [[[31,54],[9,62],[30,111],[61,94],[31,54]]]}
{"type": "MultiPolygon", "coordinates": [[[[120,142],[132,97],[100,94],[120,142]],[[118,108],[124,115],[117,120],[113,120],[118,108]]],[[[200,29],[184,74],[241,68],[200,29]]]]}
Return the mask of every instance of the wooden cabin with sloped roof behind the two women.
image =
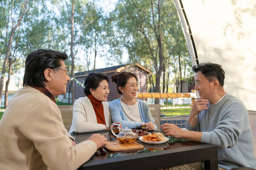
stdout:
{"type": "MultiPolygon", "coordinates": [[[[95,72],[105,73],[109,76],[110,94],[108,97],[108,101],[113,101],[120,97],[120,94],[117,91],[117,85],[111,81],[111,76],[113,74],[119,73],[121,71],[130,71],[132,73],[135,73],[136,76],[138,77],[138,82],[140,83],[140,88],[139,88],[138,92],[147,92],[147,75],[152,74],[152,72],[137,63],[123,64],[123,65],[113,66],[113,67],[109,67],[109,68],[96,69],[95,72]]],[[[83,84],[84,79],[90,73],[94,73],[94,70],[75,73],[75,79],[83,84]]],[[[71,98],[71,93],[69,93],[70,92],[70,82],[67,85],[66,92],[67,92],[66,95],[59,97],[60,102],[68,102],[68,97],[71,98]]],[[[75,82],[75,100],[80,97],[84,97],[83,87],[82,87],[82,85],[79,85],[79,83],[75,82]]],[[[71,100],[70,100],[70,102],[71,102],[71,100]]]]}

